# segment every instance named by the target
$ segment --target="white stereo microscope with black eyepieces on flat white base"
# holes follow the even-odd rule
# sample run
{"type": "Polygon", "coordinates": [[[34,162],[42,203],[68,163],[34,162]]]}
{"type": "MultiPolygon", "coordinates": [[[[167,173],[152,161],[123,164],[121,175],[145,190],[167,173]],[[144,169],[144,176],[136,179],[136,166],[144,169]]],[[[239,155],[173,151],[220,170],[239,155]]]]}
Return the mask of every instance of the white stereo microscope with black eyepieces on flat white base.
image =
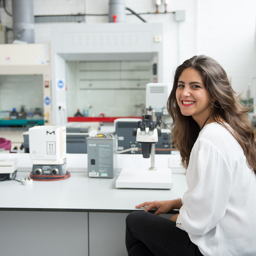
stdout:
{"type": "Polygon", "coordinates": [[[144,189],[171,189],[172,171],[168,168],[155,167],[155,145],[161,136],[161,130],[156,128],[156,116],[143,116],[138,124],[138,129],[134,129],[136,141],[141,143],[141,154],[144,158],[149,158],[151,154],[150,168],[123,168],[118,179],[116,188],[144,188],[144,189]]]}

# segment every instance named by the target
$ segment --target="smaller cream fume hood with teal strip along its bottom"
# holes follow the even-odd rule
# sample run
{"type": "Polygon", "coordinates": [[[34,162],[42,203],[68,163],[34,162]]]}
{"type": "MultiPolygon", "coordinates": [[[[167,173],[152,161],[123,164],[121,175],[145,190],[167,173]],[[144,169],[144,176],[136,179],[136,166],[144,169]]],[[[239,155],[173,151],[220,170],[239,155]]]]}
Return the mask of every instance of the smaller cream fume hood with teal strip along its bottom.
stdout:
{"type": "Polygon", "coordinates": [[[0,111],[0,125],[52,124],[48,44],[0,45],[0,111]]]}

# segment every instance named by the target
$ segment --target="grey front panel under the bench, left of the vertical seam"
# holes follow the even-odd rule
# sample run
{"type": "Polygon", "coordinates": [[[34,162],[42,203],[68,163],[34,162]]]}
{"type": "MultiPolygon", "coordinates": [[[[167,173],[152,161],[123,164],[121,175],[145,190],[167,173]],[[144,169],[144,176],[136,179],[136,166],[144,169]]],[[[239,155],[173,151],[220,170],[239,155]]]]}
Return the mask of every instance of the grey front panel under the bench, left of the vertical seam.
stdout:
{"type": "Polygon", "coordinates": [[[1,255],[88,256],[87,216],[86,212],[0,211],[1,255]]]}

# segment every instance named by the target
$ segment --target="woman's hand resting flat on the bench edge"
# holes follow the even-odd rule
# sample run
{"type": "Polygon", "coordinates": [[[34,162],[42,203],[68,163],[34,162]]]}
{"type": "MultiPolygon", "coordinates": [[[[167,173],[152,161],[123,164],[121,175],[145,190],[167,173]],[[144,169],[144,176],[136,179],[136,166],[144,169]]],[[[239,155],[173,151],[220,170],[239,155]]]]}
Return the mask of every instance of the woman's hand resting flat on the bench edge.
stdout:
{"type": "Polygon", "coordinates": [[[159,215],[172,211],[173,209],[180,209],[180,207],[182,207],[182,204],[179,199],[175,199],[166,201],[144,202],[143,204],[136,205],[137,209],[140,207],[146,207],[145,212],[148,212],[153,208],[157,208],[155,214],[159,215]]]}

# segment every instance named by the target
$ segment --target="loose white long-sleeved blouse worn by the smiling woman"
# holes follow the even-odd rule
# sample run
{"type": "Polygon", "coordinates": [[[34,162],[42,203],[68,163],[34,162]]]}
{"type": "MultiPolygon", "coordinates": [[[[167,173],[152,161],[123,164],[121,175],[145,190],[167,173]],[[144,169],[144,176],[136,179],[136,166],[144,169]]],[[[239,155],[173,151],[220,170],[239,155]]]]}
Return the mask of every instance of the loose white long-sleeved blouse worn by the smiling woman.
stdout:
{"type": "Polygon", "coordinates": [[[256,175],[224,127],[205,125],[191,151],[177,227],[205,256],[256,255],[256,175]]]}

